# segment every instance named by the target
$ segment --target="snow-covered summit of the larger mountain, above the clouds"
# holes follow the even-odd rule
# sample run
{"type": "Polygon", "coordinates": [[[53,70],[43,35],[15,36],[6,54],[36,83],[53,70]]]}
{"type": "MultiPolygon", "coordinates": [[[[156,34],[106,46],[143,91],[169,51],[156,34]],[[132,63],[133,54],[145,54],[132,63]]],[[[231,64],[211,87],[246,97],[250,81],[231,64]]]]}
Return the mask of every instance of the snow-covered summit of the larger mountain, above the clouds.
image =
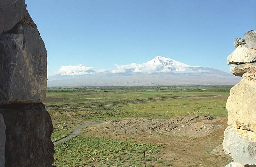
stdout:
{"type": "Polygon", "coordinates": [[[148,61],[145,64],[152,64],[152,65],[163,65],[166,67],[193,67],[191,65],[187,65],[185,63],[173,60],[171,58],[166,58],[166,57],[161,57],[161,56],[157,56],[155,58],[153,58],[152,60],[148,61]]]}

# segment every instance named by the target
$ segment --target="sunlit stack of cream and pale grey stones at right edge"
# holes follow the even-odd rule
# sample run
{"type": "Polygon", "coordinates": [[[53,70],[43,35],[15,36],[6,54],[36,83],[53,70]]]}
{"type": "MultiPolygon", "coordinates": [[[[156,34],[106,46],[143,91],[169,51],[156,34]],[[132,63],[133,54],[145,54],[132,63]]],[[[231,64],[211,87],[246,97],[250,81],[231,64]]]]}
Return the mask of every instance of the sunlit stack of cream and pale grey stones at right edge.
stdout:
{"type": "Polygon", "coordinates": [[[230,90],[226,104],[228,127],[223,148],[235,162],[226,167],[256,167],[256,31],[236,38],[236,49],[228,56],[232,74],[242,80],[230,90]]]}

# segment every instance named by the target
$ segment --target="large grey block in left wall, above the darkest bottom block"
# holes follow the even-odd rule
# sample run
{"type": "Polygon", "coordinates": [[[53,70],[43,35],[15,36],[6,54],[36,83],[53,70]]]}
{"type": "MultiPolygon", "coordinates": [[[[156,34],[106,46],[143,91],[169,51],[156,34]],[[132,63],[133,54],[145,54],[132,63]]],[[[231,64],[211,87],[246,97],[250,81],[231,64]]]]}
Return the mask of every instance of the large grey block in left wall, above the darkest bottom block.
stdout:
{"type": "Polygon", "coordinates": [[[0,35],[0,105],[45,99],[47,57],[36,28],[16,25],[0,35]]]}

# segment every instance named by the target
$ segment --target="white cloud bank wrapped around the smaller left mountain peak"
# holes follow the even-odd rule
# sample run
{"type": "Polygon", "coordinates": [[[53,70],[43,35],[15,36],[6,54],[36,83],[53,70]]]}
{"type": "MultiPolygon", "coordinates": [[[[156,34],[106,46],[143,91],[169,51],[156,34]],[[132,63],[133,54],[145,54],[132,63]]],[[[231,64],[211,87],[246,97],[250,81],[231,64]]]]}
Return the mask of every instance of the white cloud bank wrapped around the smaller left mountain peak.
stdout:
{"type": "Polygon", "coordinates": [[[92,67],[86,67],[82,64],[61,66],[58,71],[58,73],[61,73],[61,75],[83,75],[93,72],[92,67]]]}

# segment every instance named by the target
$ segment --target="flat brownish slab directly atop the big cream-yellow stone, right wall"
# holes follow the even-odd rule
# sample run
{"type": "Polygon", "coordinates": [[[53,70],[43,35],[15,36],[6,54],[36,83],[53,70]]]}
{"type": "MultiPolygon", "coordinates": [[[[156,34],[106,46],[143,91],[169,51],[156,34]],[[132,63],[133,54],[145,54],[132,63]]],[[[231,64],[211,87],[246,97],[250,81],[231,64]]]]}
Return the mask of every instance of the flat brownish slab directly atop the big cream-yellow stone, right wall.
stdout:
{"type": "Polygon", "coordinates": [[[238,77],[242,77],[245,72],[249,72],[249,71],[256,71],[256,63],[231,65],[230,67],[230,72],[238,77]]]}

